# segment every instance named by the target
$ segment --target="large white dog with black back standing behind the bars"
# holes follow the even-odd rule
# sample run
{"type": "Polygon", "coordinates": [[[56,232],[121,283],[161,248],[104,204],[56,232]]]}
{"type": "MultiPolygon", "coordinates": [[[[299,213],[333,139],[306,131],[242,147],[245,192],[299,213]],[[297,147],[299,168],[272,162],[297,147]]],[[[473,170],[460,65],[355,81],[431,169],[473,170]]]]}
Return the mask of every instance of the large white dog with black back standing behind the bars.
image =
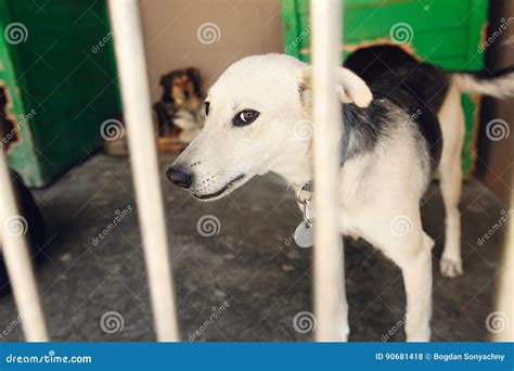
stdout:
{"type": "MultiPolygon", "coordinates": [[[[346,136],[338,175],[340,232],[369,241],[401,268],[407,340],[429,341],[434,242],[423,231],[420,200],[438,167],[447,210],[440,269],[448,277],[462,273],[461,92],[503,95],[514,84],[506,72],[452,74],[398,48],[381,48],[356,52],[347,64],[355,73],[337,72],[346,136]],[[387,67],[376,63],[376,53],[387,67]]],[[[209,90],[205,128],[168,169],[168,179],[203,201],[223,197],[268,171],[296,188],[309,183],[311,141],[298,140],[295,129],[310,119],[309,76],[307,64],[287,55],[234,63],[209,90]]],[[[342,308],[340,338],[347,340],[346,299],[342,308]]]]}

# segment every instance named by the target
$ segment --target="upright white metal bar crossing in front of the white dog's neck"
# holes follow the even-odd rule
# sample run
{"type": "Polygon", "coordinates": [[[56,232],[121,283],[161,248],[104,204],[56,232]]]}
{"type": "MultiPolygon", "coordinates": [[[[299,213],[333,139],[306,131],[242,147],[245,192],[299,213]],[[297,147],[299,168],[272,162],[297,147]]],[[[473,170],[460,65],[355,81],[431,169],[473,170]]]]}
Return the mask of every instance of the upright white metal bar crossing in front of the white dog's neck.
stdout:
{"type": "Polygon", "coordinates": [[[317,341],[340,340],[346,317],[343,239],[337,215],[337,172],[342,135],[340,102],[336,94],[336,68],[342,64],[342,1],[312,0],[312,91],[314,166],[314,312],[317,341]]]}

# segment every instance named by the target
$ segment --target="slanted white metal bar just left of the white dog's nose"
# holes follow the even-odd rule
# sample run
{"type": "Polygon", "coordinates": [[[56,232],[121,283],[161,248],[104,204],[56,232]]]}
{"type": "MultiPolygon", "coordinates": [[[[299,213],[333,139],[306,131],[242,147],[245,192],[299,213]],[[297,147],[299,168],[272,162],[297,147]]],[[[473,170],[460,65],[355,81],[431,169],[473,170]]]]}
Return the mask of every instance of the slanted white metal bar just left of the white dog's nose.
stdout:
{"type": "Polygon", "coordinates": [[[158,341],[179,341],[138,1],[110,0],[116,63],[158,341]]]}

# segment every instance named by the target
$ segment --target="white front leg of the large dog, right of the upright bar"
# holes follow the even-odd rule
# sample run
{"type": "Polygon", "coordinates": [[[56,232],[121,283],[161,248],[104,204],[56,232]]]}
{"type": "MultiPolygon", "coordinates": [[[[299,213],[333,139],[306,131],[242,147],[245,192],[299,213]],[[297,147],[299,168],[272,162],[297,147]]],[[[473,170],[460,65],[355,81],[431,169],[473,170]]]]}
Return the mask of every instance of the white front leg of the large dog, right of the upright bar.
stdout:
{"type": "Polygon", "coordinates": [[[406,335],[408,342],[431,341],[432,246],[433,240],[422,232],[422,248],[400,264],[407,293],[406,335]]]}

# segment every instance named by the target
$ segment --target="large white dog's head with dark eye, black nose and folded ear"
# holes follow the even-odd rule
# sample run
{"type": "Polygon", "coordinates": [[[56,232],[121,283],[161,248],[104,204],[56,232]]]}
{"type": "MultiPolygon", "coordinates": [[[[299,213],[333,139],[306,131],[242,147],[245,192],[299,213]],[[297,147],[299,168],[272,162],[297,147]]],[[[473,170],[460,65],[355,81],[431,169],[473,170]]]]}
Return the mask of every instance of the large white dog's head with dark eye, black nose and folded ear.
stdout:
{"type": "MultiPolygon", "coordinates": [[[[339,68],[342,102],[367,106],[368,86],[339,68]]],[[[196,199],[220,199],[256,175],[310,176],[310,67],[267,54],[232,64],[205,100],[205,127],[167,171],[196,199]]],[[[304,179],[306,180],[306,179],[304,179]]]]}

